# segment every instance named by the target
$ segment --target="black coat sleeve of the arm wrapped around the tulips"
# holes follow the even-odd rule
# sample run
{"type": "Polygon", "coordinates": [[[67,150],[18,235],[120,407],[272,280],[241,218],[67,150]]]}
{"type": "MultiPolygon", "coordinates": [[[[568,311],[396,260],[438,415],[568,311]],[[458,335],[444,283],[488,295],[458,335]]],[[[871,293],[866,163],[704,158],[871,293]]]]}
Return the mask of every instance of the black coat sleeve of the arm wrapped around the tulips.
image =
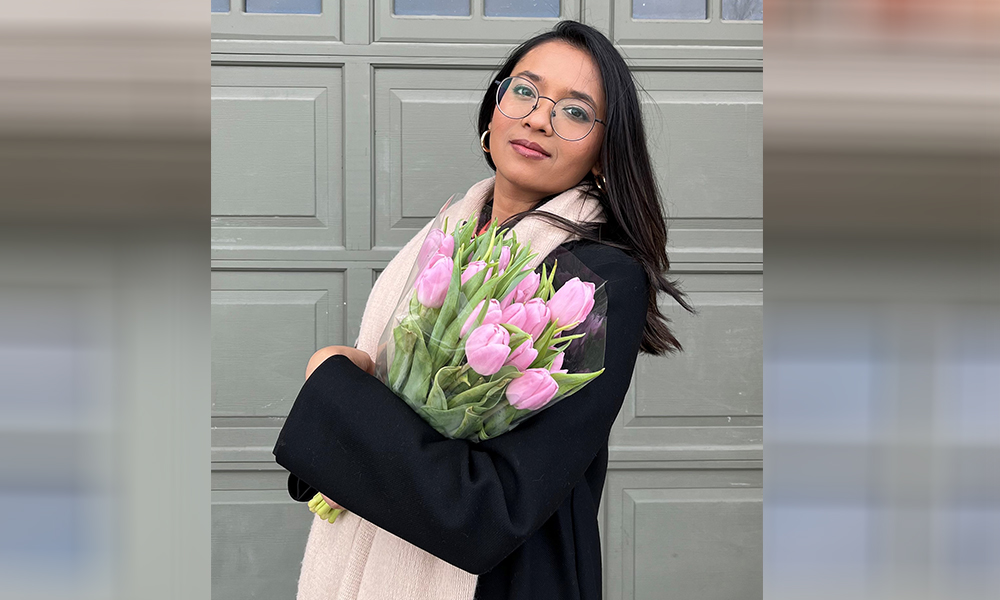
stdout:
{"type": "Polygon", "coordinates": [[[607,445],[631,381],[646,322],[645,271],[613,249],[586,264],[606,281],[608,298],[599,377],[476,443],[442,436],[378,379],[332,356],[302,387],[274,448],[293,474],[292,497],[305,501],[321,491],[469,573],[499,564],[584,477],[607,445]]]}

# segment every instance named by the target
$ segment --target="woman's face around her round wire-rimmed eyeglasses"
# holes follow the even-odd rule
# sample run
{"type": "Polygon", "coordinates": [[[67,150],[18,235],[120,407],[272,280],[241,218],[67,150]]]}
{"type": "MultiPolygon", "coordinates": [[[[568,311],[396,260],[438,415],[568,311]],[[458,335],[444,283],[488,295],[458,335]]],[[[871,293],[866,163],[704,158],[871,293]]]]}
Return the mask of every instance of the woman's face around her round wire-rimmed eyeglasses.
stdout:
{"type": "MultiPolygon", "coordinates": [[[[605,120],[600,73],[584,50],[562,41],[545,42],[525,54],[511,75],[531,81],[539,96],[552,98],[553,102],[586,94],[594,100],[597,118],[605,120]]],[[[488,141],[497,168],[497,185],[509,184],[508,189],[542,198],[575,186],[588,171],[600,172],[596,162],[604,141],[604,125],[595,123],[587,137],[569,142],[552,131],[552,108],[552,102],[539,98],[537,108],[521,119],[511,119],[499,108],[493,109],[488,141]],[[527,143],[537,144],[542,152],[526,149],[527,143]]]]}

